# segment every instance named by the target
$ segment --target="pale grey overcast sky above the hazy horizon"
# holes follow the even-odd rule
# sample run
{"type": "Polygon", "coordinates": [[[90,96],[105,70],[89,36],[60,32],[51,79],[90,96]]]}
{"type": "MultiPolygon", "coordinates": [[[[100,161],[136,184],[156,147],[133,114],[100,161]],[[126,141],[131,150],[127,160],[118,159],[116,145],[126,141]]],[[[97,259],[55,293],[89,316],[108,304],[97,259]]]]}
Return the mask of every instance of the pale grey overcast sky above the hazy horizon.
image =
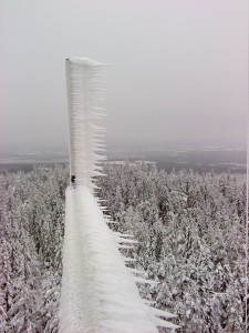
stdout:
{"type": "Polygon", "coordinates": [[[107,144],[246,145],[246,0],[1,0],[1,149],[68,149],[64,60],[105,70],[107,144]]]}

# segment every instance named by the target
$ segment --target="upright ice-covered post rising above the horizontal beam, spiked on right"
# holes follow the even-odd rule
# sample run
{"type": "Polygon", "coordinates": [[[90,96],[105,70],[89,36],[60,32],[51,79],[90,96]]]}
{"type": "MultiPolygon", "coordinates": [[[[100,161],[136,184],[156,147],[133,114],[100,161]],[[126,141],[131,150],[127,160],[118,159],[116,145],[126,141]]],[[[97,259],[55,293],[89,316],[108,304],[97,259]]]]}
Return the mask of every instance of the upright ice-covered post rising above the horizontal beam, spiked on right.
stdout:
{"type": "Polygon", "coordinates": [[[100,69],[104,64],[86,59],[66,59],[66,85],[70,132],[71,183],[92,188],[92,176],[97,174],[97,162],[104,159],[102,150],[104,129],[93,124],[100,118],[102,98],[100,69]]]}

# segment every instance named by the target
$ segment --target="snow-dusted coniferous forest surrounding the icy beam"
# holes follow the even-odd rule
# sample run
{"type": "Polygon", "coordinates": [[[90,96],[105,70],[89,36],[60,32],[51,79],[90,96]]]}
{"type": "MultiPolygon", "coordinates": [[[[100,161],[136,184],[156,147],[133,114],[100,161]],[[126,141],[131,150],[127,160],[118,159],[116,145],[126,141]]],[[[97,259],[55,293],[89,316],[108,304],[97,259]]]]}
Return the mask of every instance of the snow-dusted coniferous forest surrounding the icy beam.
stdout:
{"type": "MultiPolygon", "coordinates": [[[[96,194],[139,242],[142,297],[186,333],[245,332],[246,175],[104,165],[96,194]]],[[[55,333],[69,170],[0,175],[0,332],[55,333]]],[[[131,250],[123,250],[131,251],[131,250]]],[[[164,332],[164,331],[162,331],[164,332]]]]}

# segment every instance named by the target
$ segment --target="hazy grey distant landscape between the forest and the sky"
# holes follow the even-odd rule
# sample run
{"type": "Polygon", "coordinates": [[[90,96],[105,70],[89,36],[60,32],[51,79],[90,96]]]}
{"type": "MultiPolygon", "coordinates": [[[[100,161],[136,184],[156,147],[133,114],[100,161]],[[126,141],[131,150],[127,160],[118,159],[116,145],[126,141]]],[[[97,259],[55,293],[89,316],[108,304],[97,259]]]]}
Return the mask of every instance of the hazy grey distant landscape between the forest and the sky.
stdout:
{"type": "MultiPolygon", "coordinates": [[[[245,148],[200,148],[200,149],[141,149],[141,150],[110,150],[110,162],[134,163],[144,161],[155,163],[158,170],[170,172],[173,169],[194,170],[204,172],[231,172],[246,173],[247,151],[245,148]]],[[[68,152],[31,152],[21,151],[2,155],[0,159],[0,173],[3,172],[29,172],[35,165],[44,168],[54,164],[69,163],[68,152]]]]}

